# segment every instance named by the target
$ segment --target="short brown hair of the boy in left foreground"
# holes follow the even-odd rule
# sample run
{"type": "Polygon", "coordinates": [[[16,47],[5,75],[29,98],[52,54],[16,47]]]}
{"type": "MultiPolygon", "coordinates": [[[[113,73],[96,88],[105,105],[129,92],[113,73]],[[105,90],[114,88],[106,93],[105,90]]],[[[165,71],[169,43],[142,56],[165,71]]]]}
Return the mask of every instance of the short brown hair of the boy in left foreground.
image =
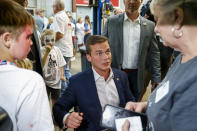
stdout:
{"type": "Polygon", "coordinates": [[[33,26],[34,19],[24,7],[13,0],[0,0],[0,35],[5,32],[18,37],[27,25],[33,26]]]}

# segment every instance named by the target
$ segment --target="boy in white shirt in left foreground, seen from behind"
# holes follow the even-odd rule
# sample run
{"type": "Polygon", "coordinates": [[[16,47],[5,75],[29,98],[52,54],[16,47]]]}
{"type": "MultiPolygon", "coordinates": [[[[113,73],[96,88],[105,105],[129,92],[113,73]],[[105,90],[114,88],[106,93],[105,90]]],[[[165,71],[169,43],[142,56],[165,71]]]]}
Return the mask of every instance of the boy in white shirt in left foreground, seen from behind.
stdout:
{"type": "Polygon", "coordinates": [[[0,106],[12,120],[12,131],[54,131],[42,77],[16,65],[30,52],[34,24],[21,5],[0,0],[0,106]]]}

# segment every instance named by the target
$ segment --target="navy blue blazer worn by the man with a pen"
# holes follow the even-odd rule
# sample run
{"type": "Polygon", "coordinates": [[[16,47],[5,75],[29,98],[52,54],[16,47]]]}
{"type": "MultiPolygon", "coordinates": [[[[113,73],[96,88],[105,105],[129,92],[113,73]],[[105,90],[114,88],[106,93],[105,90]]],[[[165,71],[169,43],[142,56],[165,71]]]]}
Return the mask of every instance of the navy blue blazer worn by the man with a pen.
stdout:
{"type": "MultiPolygon", "coordinates": [[[[126,102],[135,101],[129,90],[129,83],[124,72],[112,69],[114,82],[119,94],[120,107],[126,102]]],[[[83,112],[83,122],[80,131],[100,131],[102,108],[97,94],[92,68],[69,79],[69,86],[53,107],[53,115],[59,127],[63,126],[63,117],[72,107],[78,106],[83,112]]]]}

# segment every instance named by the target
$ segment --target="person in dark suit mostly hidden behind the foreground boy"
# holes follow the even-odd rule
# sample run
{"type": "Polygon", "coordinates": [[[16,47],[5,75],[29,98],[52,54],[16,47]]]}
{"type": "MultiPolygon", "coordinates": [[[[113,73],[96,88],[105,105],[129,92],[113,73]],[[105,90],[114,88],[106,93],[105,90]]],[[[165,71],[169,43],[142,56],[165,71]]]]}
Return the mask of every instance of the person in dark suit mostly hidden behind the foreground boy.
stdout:
{"type": "MultiPolygon", "coordinates": [[[[23,7],[27,7],[28,0],[13,0],[19,3],[23,7]]],[[[31,38],[33,45],[31,46],[31,51],[29,52],[27,58],[33,61],[33,70],[38,72],[41,76],[43,75],[42,72],[42,61],[41,61],[41,53],[40,53],[40,44],[39,38],[34,26],[32,38],[31,38]]]]}

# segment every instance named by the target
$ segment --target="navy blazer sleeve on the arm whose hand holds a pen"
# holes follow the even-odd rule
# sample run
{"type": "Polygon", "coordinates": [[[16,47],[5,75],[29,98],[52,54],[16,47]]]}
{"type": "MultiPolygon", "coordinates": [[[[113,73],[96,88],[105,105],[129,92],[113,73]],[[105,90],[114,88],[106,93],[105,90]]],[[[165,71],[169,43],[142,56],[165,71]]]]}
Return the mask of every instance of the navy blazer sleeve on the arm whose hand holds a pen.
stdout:
{"type": "Polygon", "coordinates": [[[72,87],[72,80],[70,80],[68,88],[53,106],[53,116],[60,128],[63,127],[64,116],[75,106],[75,104],[76,98],[74,96],[74,88],[72,87]]]}

